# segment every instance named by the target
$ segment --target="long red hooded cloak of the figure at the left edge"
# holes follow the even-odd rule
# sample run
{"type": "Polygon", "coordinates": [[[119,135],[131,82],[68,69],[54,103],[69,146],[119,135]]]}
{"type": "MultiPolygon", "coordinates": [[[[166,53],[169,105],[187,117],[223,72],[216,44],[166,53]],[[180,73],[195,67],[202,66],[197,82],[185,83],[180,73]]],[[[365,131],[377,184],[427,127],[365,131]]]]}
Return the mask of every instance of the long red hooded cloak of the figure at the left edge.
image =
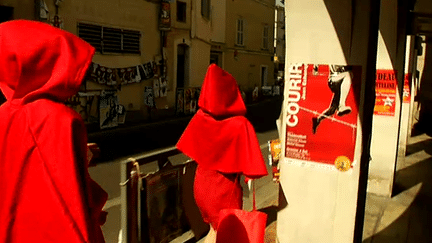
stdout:
{"type": "Polygon", "coordinates": [[[107,194],[87,171],[87,135],[64,104],[94,48],[48,24],[0,24],[0,242],[104,242],[107,194]]]}

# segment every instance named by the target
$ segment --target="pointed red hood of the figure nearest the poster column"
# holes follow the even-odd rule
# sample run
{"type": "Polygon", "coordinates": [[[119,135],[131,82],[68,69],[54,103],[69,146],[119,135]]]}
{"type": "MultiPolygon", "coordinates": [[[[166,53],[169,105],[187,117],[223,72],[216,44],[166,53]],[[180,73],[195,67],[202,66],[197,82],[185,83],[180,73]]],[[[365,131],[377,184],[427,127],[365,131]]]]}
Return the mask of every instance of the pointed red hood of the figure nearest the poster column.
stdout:
{"type": "Polygon", "coordinates": [[[214,117],[244,116],[246,107],[234,77],[216,64],[209,66],[198,101],[214,117]]]}

